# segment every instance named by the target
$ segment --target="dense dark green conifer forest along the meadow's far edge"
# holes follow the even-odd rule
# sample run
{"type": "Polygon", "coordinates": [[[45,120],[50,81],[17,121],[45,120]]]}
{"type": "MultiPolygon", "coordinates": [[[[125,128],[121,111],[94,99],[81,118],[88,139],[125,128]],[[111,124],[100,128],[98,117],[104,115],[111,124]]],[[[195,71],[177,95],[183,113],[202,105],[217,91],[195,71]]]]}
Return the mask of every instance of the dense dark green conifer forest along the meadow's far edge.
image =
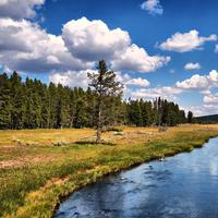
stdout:
{"type": "MultiPolygon", "coordinates": [[[[0,75],[0,129],[93,128],[95,99],[89,87],[84,90],[61,84],[46,85],[31,78],[22,82],[16,72],[10,77],[3,73],[0,75]]],[[[117,96],[108,98],[104,107],[104,122],[108,125],[177,125],[186,122],[185,113],[178,105],[160,98],[123,101],[117,96]]]]}

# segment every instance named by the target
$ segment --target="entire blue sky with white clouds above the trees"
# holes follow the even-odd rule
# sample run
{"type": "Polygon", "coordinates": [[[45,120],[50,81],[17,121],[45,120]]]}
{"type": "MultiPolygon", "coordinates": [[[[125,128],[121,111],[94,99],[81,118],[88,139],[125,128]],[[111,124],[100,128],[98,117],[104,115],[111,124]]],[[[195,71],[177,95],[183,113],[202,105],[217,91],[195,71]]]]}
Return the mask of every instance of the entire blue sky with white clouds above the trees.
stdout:
{"type": "Polygon", "coordinates": [[[217,0],[4,0],[1,72],[86,88],[104,58],[124,96],[218,112],[217,0]]]}

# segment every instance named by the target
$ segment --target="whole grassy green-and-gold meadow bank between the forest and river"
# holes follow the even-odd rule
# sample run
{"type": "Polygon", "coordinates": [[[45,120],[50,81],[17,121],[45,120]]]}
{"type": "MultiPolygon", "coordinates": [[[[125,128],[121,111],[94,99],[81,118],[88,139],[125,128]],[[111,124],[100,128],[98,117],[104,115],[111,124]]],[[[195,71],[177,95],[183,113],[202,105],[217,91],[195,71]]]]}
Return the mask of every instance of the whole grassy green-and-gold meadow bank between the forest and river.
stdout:
{"type": "Polygon", "coordinates": [[[201,147],[218,135],[218,125],[161,133],[123,128],[104,134],[108,145],[75,144],[93,135],[92,130],[1,131],[0,216],[51,217],[60,199],[73,191],[108,173],[201,147]],[[57,143],[62,146],[53,146],[57,143]]]}

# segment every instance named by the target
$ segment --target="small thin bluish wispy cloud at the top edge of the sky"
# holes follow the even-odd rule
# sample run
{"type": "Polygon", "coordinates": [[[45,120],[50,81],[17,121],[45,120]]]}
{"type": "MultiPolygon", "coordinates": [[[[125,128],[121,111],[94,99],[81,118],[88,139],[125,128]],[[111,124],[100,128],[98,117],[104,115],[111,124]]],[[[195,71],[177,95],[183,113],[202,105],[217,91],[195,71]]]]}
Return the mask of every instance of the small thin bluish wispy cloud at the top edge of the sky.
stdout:
{"type": "Polygon", "coordinates": [[[141,9],[153,15],[161,15],[164,13],[164,9],[159,0],[147,0],[141,4],[141,9]]]}

